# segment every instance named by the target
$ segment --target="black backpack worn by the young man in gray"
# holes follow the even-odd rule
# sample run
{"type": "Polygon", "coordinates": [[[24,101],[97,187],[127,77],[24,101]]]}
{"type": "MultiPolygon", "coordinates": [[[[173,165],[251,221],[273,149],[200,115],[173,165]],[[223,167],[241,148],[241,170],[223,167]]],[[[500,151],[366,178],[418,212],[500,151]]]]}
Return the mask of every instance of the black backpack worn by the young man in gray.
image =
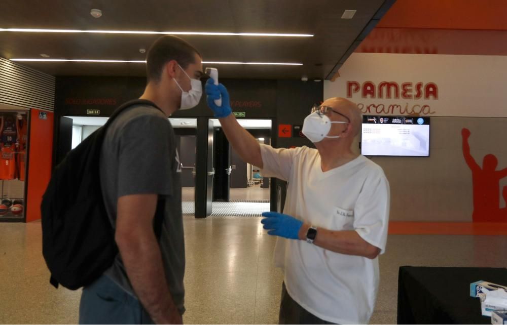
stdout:
{"type": "MultiPolygon", "coordinates": [[[[42,253],[51,272],[50,282],[76,290],[99,278],[118,254],[115,234],[107,216],[99,176],[99,159],[108,126],[126,108],[146,105],[132,100],[115,110],[106,124],[71,150],[53,171],[44,192],[42,253]]],[[[160,237],[163,200],[158,201],[154,230],[160,237]]]]}

